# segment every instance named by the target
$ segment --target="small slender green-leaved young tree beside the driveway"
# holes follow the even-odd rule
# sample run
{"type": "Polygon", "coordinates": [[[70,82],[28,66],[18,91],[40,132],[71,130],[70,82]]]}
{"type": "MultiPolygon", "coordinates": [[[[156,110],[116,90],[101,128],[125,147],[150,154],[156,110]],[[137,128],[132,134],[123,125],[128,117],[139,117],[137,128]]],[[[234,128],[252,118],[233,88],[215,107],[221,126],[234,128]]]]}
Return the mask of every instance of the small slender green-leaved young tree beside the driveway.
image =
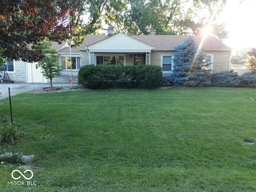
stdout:
{"type": "Polygon", "coordinates": [[[59,72],[62,70],[58,64],[58,52],[55,49],[52,49],[50,46],[51,42],[44,40],[38,44],[38,48],[42,49],[44,58],[38,62],[38,66],[42,68],[42,74],[46,79],[50,79],[50,86],[52,86],[52,79],[59,76],[59,72]]]}

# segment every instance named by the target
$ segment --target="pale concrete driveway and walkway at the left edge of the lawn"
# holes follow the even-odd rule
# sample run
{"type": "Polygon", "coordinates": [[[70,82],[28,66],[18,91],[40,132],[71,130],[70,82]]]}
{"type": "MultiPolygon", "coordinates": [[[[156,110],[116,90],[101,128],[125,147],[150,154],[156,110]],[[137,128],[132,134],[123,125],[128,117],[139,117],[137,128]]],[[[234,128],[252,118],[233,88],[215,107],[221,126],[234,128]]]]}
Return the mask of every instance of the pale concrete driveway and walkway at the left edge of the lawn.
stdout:
{"type": "MultiPolygon", "coordinates": [[[[52,84],[53,86],[71,86],[69,83],[63,83],[63,84],[52,84]]],[[[73,86],[76,86],[77,84],[73,83],[73,86]]],[[[11,82],[0,82],[0,99],[9,97],[9,91],[8,88],[10,87],[10,95],[14,96],[20,93],[30,92],[35,89],[41,89],[44,87],[49,87],[50,83],[11,83],[11,82]]]]}

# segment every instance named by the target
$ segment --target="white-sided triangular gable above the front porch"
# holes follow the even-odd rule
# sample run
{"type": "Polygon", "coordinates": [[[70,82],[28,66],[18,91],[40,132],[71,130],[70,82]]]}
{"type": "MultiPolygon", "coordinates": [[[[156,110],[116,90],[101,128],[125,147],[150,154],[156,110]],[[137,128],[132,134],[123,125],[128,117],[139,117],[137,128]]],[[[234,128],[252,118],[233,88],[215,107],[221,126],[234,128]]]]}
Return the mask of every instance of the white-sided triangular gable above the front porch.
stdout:
{"type": "Polygon", "coordinates": [[[153,46],[122,33],[87,46],[90,52],[151,52],[153,46]]]}

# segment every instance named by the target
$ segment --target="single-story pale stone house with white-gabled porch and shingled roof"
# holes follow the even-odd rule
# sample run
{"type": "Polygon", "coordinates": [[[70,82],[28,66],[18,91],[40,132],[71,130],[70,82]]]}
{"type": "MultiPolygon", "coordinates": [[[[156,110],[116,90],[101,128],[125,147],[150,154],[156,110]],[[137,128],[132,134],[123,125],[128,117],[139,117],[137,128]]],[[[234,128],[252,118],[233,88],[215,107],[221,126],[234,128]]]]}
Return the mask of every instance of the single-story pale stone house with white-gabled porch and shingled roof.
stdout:
{"type": "MultiPolygon", "coordinates": [[[[117,64],[132,66],[138,64],[158,65],[163,68],[163,74],[172,73],[172,57],[174,46],[181,44],[186,35],[156,35],[154,30],[150,35],[113,34],[113,27],[108,27],[108,35],[88,34],[79,48],[71,48],[72,69],[70,65],[70,48],[65,42],[52,48],[58,51],[58,62],[62,66],[59,77],[53,83],[68,82],[71,78],[77,82],[77,74],[81,66],[117,64]]],[[[211,60],[210,69],[213,73],[230,70],[232,49],[214,36],[203,38],[194,35],[198,46],[202,45],[208,58],[211,60]],[[204,39],[204,40],[203,40],[204,39]],[[203,41],[202,41],[203,40],[203,41]]],[[[28,83],[48,82],[36,63],[8,61],[7,71],[14,81],[28,83]],[[10,69],[10,70],[9,70],[10,69]]]]}

